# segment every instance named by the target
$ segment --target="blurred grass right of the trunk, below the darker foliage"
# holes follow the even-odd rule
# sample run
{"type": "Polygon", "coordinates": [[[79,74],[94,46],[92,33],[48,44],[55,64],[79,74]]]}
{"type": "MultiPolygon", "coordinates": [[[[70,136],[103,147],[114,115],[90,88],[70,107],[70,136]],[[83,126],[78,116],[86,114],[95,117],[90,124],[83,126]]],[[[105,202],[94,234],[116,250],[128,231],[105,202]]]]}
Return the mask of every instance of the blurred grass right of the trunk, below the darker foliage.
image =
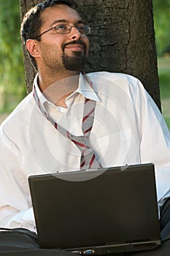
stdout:
{"type": "Polygon", "coordinates": [[[170,129],[170,57],[158,58],[162,113],[170,129]]]}

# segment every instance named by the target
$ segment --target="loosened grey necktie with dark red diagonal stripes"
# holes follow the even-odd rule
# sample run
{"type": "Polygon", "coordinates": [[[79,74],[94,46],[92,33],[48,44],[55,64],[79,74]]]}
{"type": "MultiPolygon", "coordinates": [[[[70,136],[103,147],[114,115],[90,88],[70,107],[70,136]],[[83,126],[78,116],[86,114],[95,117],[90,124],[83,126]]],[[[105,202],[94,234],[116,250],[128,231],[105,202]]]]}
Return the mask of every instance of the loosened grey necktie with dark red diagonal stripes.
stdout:
{"type": "MultiPolygon", "coordinates": [[[[89,80],[88,80],[89,81],[89,80]]],[[[93,127],[93,118],[94,118],[94,110],[96,106],[96,102],[91,99],[85,98],[84,104],[84,111],[83,111],[83,118],[82,118],[82,132],[84,135],[82,136],[75,136],[72,135],[69,131],[61,127],[60,124],[57,124],[53,121],[53,118],[47,116],[47,112],[44,108],[42,108],[42,104],[39,100],[38,94],[36,93],[36,88],[33,88],[33,96],[36,101],[36,104],[39,106],[39,109],[42,111],[43,115],[50,121],[55,129],[58,130],[63,136],[72,140],[74,145],[80,149],[81,152],[81,159],[80,159],[80,170],[84,169],[93,169],[93,168],[100,168],[101,164],[97,161],[95,152],[93,148],[90,148],[89,144],[89,135],[91,129],[93,127]]]]}

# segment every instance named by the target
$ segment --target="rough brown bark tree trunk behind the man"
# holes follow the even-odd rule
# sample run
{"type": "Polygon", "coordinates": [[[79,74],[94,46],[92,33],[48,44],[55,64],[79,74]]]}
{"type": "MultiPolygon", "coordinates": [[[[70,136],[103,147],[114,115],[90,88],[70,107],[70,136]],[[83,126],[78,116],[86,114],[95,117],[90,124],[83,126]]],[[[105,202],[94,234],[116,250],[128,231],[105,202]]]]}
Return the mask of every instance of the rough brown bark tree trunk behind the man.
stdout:
{"type": "MultiPolygon", "coordinates": [[[[42,1],[42,0],[40,0],[42,1]]],[[[21,18],[39,0],[20,0],[21,18]]],[[[77,0],[82,18],[91,27],[86,72],[109,71],[134,75],[161,109],[155,50],[152,0],[77,0]]],[[[26,84],[31,90],[34,69],[26,51],[26,84]]]]}

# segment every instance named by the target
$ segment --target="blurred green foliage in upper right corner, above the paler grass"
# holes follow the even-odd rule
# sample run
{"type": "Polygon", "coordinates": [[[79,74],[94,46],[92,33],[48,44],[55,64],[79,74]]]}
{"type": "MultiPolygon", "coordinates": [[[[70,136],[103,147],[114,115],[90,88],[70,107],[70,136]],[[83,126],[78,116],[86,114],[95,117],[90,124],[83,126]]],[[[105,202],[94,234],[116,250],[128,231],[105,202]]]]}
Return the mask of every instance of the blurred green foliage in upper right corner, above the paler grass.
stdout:
{"type": "Polygon", "coordinates": [[[170,54],[170,0],[152,0],[158,56],[170,54]]]}

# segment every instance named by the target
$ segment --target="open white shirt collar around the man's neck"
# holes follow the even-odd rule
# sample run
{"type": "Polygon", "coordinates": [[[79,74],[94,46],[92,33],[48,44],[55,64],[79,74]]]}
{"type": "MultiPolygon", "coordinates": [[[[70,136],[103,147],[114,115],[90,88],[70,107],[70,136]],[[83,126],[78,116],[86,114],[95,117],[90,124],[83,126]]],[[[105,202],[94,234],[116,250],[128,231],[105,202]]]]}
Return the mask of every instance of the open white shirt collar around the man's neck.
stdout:
{"type": "MultiPolygon", "coordinates": [[[[54,107],[55,105],[52,102],[50,102],[48,99],[46,99],[44,94],[42,94],[42,92],[40,91],[39,86],[38,86],[38,76],[39,76],[39,74],[37,73],[36,77],[34,78],[34,86],[35,86],[39,101],[41,102],[41,104],[44,108],[45,108],[45,105],[54,107]]],[[[74,91],[72,94],[70,94],[69,97],[66,98],[66,100],[69,100],[72,97],[75,97],[75,95],[77,93],[82,94],[82,96],[84,96],[87,99],[91,99],[96,102],[100,101],[100,99],[98,98],[98,95],[96,94],[96,91],[94,91],[94,89],[93,89],[90,78],[88,78],[88,75],[82,75],[82,73],[80,73],[79,86],[78,86],[77,90],[74,91]]],[[[55,106],[55,108],[57,108],[57,106],[55,106]]]]}

